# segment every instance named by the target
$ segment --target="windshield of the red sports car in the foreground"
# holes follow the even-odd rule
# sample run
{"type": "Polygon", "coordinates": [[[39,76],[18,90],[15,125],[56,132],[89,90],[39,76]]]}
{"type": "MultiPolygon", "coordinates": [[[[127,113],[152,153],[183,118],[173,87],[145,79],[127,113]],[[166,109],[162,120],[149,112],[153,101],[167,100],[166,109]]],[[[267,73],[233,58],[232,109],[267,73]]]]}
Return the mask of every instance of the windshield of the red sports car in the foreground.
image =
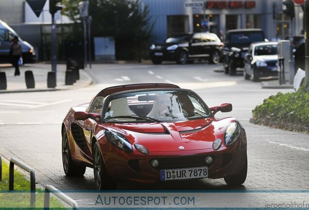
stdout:
{"type": "Polygon", "coordinates": [[[194,93],[166,90],[114,96],[108,102],[104,122],[175,122],[208,117],[208,107],[194,93]]]}

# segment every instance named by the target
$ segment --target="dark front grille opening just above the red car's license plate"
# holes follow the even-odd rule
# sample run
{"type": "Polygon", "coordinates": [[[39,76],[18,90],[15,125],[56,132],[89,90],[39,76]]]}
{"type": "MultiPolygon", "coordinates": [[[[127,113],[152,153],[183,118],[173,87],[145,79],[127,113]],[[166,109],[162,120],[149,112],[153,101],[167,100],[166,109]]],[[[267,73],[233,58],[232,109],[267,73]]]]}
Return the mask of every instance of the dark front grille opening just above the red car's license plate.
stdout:
{"type": "Polygon", "coordinates": [[[160,171],[164,169],[193,168],[193,167],[203,167],[203,166],[210,167],[212,163],[207,164],[205,162],[206,157],[207,156],[155,158],[159,161],[159,165],[153,168],[156,171],[160,171]]]}

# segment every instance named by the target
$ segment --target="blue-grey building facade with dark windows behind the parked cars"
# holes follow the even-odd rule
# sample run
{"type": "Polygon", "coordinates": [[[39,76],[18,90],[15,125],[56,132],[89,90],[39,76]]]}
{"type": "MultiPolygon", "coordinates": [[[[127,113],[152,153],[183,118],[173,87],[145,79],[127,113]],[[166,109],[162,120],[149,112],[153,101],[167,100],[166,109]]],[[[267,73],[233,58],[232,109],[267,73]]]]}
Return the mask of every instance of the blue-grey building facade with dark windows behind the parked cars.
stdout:
{"type": "Polygon", "coordinates": [[[225,35],[231,29],[261,28],[269,40],[301,35],[304,13],[295,4],[295,18],[282,12],[282,0],[141,0],[154,22],[153,41],[172,34],[209,31],[225,35]],[[200,6],[204,2],[204,7],[200,6]],[[275,7],[275,16],[274,16],[275,7]]]}

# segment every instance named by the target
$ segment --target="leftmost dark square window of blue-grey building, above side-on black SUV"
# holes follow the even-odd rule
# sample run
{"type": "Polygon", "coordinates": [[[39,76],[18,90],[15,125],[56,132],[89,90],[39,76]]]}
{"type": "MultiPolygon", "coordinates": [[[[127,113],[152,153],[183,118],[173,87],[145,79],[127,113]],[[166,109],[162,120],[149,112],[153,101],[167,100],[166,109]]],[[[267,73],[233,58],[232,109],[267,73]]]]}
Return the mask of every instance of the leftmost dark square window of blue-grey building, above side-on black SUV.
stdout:
{"type": "Polygon", "coordinates": [[[168,37],[173,34],[189,32],[188,16],[167,16],[167,33],[168,37]]]}

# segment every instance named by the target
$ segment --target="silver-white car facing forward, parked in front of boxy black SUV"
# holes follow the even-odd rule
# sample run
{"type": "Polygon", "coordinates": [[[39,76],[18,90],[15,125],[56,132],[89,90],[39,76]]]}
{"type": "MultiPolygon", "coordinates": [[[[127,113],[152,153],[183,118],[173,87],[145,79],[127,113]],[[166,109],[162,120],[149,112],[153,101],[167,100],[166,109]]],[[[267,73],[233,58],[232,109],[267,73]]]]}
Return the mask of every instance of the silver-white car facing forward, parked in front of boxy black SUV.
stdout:
{"type": "Polygon", "coordinates": [[[244,58],[243,75],[254,82],[260,77],[278,76],[277,42],[252,43],[244,58]]]}

